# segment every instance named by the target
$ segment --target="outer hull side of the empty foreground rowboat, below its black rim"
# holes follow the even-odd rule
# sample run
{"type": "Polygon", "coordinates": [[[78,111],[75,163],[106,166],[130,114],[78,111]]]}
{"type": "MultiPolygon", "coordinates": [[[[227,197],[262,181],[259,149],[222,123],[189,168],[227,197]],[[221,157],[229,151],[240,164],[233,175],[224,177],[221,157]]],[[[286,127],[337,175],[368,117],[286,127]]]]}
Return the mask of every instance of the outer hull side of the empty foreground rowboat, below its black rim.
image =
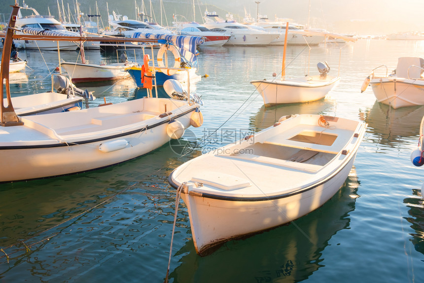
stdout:
{"type": "Polygon", "coordinates": [[[279,199],[226,201],[181,194],[187,206],[196,252],[205,255],[216,245],[286,224],[318,209],[343,185],[354,158],[322,183],[279,199]]]}

